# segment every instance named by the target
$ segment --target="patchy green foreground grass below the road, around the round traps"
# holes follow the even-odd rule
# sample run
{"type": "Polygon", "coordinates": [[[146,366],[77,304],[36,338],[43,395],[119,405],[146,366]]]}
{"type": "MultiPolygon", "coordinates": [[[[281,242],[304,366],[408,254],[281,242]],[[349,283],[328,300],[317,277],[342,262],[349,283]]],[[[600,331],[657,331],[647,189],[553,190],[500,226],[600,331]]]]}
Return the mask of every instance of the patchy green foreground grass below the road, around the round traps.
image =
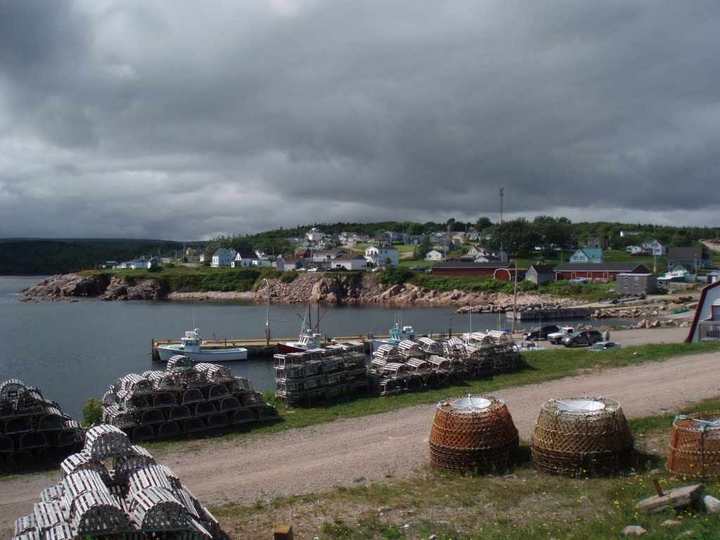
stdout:
{"type": "MultiPolygon", "coordinates": [[[[720,397],[682,412],[717,409],[720,397]]],[[[636,439],[654,426],[655,434],[667,441],[672,417],[641,418],[629,424],[636,439]]],[[[654,478],[665,491],[692,483],[667,473],[666,447],[654,454],[636,451],[633,467],[611,477],[566,478],[539,472],[523,445],[518,464],[505,474],[460,475],[436,471],[428,463],[409,479],[387,474],[382,482],[364,480],[328,492],[250,506],[230,502],[210,510],[230,536],[243,538],[258,536],[272,523],[292,523],[295,536],[318,540],[610,540],[629,525],[642,526],[651,539],[718,538],[718,514],[688,509],[645,515],[636,510],[636,503],[654,495],[654,478]],[[667,519],[680,525],[663,527],[667,519]]],[[[706,482],[705,492],[719,497],[720,486],[706,482]]]]}

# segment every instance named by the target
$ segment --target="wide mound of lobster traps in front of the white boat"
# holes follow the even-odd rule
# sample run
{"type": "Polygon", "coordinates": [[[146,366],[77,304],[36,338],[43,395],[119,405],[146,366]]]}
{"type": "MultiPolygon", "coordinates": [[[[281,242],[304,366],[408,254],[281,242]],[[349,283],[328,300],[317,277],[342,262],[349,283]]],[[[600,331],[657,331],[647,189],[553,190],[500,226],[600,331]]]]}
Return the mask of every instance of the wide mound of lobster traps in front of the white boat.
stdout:
{"type": "Polygon", "coordinates": [[[120,377],[102,398],[104,423],[133,440],[277,420],[250,381],[228,366],[193,364],[173,356],[165,371],[120,377]]]}

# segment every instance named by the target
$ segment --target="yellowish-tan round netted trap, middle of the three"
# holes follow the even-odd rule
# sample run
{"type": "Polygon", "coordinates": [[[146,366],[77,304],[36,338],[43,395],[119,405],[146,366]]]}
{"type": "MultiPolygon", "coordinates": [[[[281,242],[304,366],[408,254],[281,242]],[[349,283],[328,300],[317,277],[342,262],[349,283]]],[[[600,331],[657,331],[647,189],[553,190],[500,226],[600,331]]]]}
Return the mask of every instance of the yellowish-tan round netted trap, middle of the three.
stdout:
{"type": "Polygon", "coordinates": [[[542,471],[608,474],[629,465],[633,439],[616,400],[568,397],[543,403],[530,448],[542,471]]]}

